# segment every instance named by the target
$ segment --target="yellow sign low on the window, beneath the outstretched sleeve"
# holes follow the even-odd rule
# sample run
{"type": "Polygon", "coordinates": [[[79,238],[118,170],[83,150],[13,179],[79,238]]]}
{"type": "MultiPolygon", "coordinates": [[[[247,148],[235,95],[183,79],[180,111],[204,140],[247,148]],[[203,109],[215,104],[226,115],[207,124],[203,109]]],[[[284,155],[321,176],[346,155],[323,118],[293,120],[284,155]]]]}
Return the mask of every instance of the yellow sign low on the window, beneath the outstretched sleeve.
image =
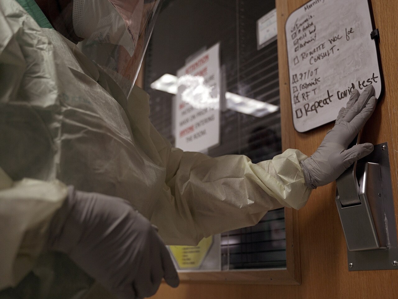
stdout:
{"type": "Polygon", "coordinates": [[[199,268],[213,243],[213,236],[202,239],[197,246],[170,246],[180,269],[199,268]]]}

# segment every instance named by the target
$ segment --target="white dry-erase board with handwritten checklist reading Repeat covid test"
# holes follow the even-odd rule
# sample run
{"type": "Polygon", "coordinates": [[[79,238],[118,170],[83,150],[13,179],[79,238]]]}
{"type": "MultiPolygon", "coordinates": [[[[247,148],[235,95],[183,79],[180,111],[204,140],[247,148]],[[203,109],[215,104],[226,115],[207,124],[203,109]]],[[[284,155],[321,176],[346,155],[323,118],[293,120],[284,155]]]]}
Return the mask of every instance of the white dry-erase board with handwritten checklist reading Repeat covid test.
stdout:
{"type": "Polygon", "coordinates": [[[298,132],[334,121],[354,88],[382,91],[368,0],[312,0],[286,21],[293,124],[298,132]]]}

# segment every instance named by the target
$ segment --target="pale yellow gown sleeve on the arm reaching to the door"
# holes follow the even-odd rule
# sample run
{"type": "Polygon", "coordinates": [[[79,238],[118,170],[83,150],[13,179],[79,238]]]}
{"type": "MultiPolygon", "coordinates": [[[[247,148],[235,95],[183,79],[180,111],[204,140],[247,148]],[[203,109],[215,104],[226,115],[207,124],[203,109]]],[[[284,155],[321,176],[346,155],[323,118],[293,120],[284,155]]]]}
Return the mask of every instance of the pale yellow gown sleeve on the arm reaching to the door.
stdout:
{"type": "MultiPolygon", "coordinates": [[[[244,155],[212,158],[171,146],[149,120],[148,95],[133,89],[133,134],[166,168],[164,196],[150,219],[166,244],[195,245],[203,237],[255,225],[272,209],[300,209],[310,196],[297,149],[257,164],[244,155]],[[167,200],[164,200],[167,198],[167,200]]],[[[156,160],[152,157],[152,160],[156,160]]]]}

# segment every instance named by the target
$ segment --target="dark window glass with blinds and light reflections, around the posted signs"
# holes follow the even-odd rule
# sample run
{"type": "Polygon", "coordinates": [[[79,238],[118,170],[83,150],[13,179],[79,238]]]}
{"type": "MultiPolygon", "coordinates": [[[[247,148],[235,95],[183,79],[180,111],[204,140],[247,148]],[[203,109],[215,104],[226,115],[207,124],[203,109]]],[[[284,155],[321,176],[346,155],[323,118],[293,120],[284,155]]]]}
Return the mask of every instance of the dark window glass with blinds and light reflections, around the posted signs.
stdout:
{"type": "MultiPolygon", "coordinates": [[[[244,154],[257,163],[281,153],[277,42],[259,47],[256,29],[274,8],[273,0],[164,2],[146,55],[145,89],[151,121],[172,144],[177,70],[220,42],[220,145],[207,154],[244,154]],[[166,82],[163,89],[157,80],[166,82]]],[[[254,227],[223,233],[221,260],[223,270],[285,267],[283,209],[254,227]]]]}

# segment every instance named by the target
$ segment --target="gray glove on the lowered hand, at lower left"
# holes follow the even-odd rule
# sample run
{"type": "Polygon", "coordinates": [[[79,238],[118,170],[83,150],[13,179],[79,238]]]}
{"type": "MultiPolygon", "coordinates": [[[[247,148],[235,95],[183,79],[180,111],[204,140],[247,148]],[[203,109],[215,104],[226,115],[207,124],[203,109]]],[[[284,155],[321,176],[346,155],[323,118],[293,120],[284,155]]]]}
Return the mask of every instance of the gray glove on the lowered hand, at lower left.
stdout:
{"type": "Polygon", "coordinates": [[[162,278],[179,284],[170,254],[150,222],[123,199],[75,191],[50,225],[49,249],[68,254],[121,299],[150,297],[162,278]]]}

